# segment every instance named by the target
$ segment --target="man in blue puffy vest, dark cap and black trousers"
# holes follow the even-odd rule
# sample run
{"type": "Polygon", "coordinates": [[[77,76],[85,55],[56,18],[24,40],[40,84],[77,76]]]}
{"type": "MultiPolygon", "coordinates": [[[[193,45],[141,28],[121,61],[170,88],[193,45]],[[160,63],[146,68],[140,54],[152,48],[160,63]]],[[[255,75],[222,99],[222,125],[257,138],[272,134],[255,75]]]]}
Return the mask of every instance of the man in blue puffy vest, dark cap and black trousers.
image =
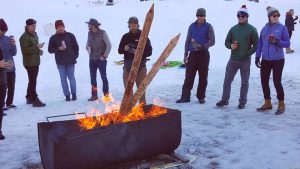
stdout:
{"type": "Polygon", "coordinates": [[[206,10],[204,8],[197,10],[196,17],[197,20],[189,26],[185,41],[185,79],[182,86],[181,98],[176,103],[190,102],[191,90],[197,72],[199,82],[196,96],[200,104],[205,103],[210,60],[208,49],[215,44],[215,34],[212,25],[206,22],[206,10]]]}

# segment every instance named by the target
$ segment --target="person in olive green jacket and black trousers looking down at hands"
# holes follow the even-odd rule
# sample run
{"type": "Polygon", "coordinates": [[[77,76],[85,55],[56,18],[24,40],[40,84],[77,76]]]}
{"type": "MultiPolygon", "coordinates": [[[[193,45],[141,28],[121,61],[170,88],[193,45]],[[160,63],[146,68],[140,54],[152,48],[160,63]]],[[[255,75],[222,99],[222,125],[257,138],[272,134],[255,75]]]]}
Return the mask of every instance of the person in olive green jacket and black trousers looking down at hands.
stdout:
{"type": "Polygon", "coordinates": [[[36,29],[36,21],[27,19],[25,32],[20,37],[20,46],[23,55],[23,65],[28,74],[28,86],[26,103],[32,104],[33,107],[44,107],[43,103],[36,93],[36,82],[39,73],[40,56],[43,54],[44,43],[39,43],[36,29]]]}

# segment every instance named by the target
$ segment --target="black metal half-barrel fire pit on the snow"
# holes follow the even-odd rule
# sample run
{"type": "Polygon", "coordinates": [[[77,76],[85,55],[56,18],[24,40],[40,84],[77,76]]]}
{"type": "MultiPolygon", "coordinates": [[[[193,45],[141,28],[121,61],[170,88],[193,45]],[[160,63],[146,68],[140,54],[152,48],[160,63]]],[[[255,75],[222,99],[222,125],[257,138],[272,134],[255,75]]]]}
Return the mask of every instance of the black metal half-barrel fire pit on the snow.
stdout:
{"type": "MultiPolygon", "coordinates": [[[[152,105],[144,107],[145,112],[152,105]]],[[[77,120],[38,123],[44,169],[100,169],[161,153],[171,153],[181,141],[181,112],[92,130],[77,120]]]]}

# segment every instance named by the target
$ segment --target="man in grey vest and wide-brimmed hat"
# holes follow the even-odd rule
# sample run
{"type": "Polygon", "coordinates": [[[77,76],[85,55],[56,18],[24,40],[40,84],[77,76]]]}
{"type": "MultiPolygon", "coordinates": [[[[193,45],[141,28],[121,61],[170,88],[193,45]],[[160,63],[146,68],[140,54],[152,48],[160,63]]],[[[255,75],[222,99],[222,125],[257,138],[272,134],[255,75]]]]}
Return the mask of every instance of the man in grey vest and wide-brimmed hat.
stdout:
{"type": "Polygon", "coordinates": [[[107,33],[100,29],[101,25],[96,19],[91,18],[89,22],[86,22],[89,27],[88,40],[86,44],[86,49],[88,51],[90,61],[90,76],[91,76],[91,93],[92,96],[88,101],[94,101],[98,99],[98,88],[97,88],[97,70],[100,71],[100,76],[102,79],[102,91],[104,96],[108,96],[109,87],[108,80],[106,76],[106,65],[107,57],[111,50],[111,42],[108,38],[107,33]]]}

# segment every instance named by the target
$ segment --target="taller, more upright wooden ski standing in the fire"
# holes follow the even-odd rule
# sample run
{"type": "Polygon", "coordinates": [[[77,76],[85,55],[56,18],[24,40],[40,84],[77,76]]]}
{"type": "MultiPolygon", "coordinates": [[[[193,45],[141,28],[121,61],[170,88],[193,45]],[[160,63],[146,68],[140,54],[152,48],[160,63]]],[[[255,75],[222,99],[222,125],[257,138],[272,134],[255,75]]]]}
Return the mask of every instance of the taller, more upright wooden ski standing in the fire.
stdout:
{"type": "Polygon", "coordinates": [[[154,4],[152,4],[151,8],[149,9],[149,11],[146,15],[143,30],[142,30],[142,33],[141,33],[141,36],[140,36],[140,39],[139,39],[139,42],[137,45],[137,49],[135,51],[134,60],[133,60],[132,67],[131,67],[131,70],[129,73],[129,77],[127,80],[125,92],[124,92],[123,99],[121,102],[121,107],[120,107],[120,113],[123,115],[126,114],[126,107],[129,103],[129,100],[130,100],[130,97],[132,94],[132,88],[134,86],[134,82],[135,82],[135,79],[136,79],[136,76],[137,76],[137,73],[138,73],[138,70],[140,67],[140,63],[141,63],[144,49],[146,46],[146,42],[148,39],[148,34],[149,34],[151,24],[153,21],[153,17],[154,17],[154,4]]]}

